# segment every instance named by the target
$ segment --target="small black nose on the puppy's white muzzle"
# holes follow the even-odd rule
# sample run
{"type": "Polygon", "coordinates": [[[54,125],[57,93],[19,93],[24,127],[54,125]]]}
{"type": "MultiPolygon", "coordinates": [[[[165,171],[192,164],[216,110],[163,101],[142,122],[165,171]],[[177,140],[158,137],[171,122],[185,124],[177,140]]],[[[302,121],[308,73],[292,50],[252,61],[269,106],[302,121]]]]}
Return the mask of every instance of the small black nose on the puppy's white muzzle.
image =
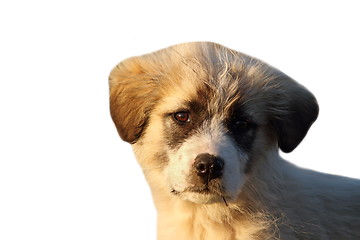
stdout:
{"type": "Polygon", "coordinates": [[[195,158],[194,167],[198,176],[210,181],[221,177],[224,160],[209,153],[202,153],[195,158]]]}

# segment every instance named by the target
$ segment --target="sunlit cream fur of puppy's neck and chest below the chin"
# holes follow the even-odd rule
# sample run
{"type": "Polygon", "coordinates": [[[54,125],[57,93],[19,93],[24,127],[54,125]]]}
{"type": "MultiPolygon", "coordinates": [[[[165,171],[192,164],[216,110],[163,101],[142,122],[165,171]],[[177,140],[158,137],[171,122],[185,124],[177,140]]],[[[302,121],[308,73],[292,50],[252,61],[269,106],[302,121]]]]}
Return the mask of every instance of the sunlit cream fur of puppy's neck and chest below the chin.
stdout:
{"type": "MultiPolygon", "coordinates": [[[[195,204],[175,197],[158,206],[158,239],[265,239],[266,213],[248,203],[195,204]],[[257,236],[257,238],[254,238],[257,236]]],[[[158,203],[158,204],[157,204],[158,203]]]]}

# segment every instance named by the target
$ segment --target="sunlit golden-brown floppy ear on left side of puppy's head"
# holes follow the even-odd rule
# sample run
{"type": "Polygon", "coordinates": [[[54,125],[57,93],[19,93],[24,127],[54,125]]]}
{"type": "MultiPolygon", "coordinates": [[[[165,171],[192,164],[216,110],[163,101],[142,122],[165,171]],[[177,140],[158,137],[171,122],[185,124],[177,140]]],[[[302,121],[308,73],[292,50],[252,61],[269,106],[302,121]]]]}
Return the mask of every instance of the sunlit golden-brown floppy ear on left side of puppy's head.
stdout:
{"type": "Polygon", "coordinates": [[[111,117],[121,139],[131,144],[141,136],[156,102],[156,76],[147,67],[141,57],[130,58],[109,76],[111,117]]]}

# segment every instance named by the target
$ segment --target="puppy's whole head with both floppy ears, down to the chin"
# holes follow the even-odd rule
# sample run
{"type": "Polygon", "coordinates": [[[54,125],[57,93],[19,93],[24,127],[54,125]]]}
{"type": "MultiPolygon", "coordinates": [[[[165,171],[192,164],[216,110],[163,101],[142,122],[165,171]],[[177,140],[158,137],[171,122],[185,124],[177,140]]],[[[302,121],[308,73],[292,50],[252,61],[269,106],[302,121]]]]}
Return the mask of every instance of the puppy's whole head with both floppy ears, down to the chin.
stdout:
{"type": "Polygon", "coordinates": [[[236,200],[254,166],[295,149],[318,115],[303,86],[214,43],[120,63],[110,108],[150,185],[199,204],[236,200]]]}

